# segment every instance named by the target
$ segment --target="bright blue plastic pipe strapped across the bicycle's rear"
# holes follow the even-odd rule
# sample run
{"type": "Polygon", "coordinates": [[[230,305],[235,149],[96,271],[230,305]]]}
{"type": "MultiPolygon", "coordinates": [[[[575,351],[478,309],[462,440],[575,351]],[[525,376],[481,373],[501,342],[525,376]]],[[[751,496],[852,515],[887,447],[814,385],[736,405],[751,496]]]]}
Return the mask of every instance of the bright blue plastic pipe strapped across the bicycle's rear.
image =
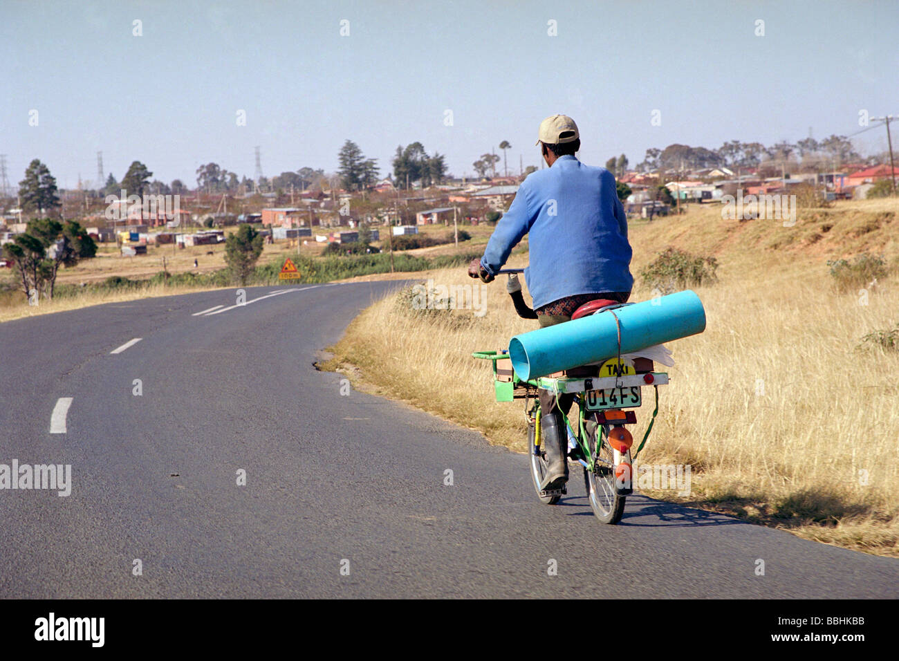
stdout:
{"type": "Polygon", "coordinates": [[[605,310],[512,337],[509,355],[518,378],[536,379],[618,355],[618,326],[612,313],[621,323],[621,353],[637,352],[706,329],[706,310],[690,290],[605,310]]]}

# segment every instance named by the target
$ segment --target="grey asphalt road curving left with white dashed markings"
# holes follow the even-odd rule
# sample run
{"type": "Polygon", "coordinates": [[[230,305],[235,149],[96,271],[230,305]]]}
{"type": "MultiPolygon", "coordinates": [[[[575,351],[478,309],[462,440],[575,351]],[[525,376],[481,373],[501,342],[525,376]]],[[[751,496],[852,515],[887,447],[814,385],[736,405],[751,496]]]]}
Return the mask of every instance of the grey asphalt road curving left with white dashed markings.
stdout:
{"type": "Polygon", "coordinates": [[[527,457],[341,395],[316,352],[392,287],[252,288],[241,307],[222,290],[0,325],[0,463],[72,467],[70,496],[0,490],[0,597],[899,596],[899,560],[644,496],[602,525],[579,469],[561,505],[541,505],[527,457]],[[51,433],[60,397],[65,433],[51,433]]]}

